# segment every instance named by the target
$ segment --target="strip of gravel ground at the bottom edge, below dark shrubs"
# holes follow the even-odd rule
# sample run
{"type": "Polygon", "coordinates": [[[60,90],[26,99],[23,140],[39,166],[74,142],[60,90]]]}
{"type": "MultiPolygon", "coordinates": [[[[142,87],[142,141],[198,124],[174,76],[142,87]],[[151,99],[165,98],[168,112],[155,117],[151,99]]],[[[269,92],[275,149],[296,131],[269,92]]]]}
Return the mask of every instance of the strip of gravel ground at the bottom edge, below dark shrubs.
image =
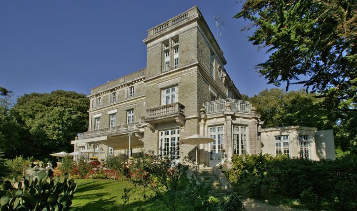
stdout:
{"type": "Polygon", "coordinates": [[[243,198],[242,202],[247,211],[306,211],[306,210],[294,209],[282,205],[277,207],[250,198],[243,198]]]}

